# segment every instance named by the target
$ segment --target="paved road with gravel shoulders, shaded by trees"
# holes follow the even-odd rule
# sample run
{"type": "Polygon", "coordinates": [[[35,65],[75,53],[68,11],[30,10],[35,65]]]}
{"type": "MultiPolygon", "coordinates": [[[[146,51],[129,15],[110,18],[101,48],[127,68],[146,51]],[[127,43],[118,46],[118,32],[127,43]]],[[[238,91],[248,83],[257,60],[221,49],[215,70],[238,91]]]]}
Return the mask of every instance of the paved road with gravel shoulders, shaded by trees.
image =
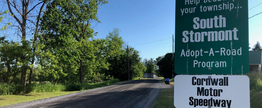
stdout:
{"type": "Polygon", "coordinates": [[[131,80],[98,89],[1,108],[152,108],[161,89],[160,79],[131,80]]]}

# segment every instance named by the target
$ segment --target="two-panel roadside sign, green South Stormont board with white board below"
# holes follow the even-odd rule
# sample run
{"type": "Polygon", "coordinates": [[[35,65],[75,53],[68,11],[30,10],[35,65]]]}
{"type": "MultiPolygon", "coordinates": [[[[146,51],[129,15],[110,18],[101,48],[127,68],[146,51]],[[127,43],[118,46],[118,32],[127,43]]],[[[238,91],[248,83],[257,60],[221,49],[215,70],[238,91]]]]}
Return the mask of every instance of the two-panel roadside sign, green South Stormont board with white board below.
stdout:
{"type": "Polygon", "coordinates": [[[248,0],[177,0],[175,26],[174,106],[250,108],[248,0]]]}

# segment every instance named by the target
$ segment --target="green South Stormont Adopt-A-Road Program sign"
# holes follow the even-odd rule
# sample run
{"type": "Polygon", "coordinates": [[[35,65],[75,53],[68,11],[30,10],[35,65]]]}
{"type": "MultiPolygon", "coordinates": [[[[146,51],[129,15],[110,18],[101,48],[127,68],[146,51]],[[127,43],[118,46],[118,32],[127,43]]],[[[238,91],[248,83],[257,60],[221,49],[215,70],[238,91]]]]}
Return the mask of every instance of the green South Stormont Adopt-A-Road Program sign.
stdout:
{"type": "Polygon", "coordinates": [[[176,0],[175,72],[247,74],[248,0],[176,0]]]}

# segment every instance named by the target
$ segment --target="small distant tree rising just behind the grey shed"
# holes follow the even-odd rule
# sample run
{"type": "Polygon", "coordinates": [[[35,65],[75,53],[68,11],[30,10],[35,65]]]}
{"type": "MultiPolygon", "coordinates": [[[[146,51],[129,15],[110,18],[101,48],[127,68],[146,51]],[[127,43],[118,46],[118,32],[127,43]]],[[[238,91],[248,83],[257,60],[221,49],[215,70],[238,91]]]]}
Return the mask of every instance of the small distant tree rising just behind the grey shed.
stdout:
{"type": "Polygon", "coordinates": [[[145,73],[154,73],[155,74],[155,65],[154,65],[154,60],[152,58],[150,58],[149,60],[147,60],[147,58],[145,58],[143,60],[144,66],[146,67],[145,73]]]}

